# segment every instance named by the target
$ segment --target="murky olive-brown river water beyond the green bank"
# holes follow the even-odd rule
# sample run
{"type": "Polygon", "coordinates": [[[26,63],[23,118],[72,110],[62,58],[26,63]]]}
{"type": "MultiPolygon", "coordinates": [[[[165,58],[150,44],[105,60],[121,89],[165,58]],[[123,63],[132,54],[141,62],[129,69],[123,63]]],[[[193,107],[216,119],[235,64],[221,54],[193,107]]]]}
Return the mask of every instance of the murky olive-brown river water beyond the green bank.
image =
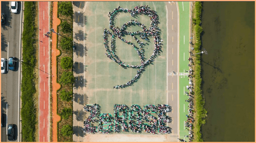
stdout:
{"type": "Polygon", "coordinates": [[[203,2],[204,141],[254,141],[254,2],[203,2]]]}

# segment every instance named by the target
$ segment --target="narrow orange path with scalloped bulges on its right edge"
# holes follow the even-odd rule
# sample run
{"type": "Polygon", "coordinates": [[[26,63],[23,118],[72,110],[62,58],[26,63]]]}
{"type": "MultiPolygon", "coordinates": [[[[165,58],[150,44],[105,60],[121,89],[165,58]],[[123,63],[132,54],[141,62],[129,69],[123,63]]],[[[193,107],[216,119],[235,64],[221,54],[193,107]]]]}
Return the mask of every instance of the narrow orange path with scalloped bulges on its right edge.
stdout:
{"type": "MultiPolygon", "coordinates": [[[[53,2],[53,25],[54,30],[60,24],[60,19],[57,18],[58,2],[53,2]]],[[[60,84],[57,83],[57,56],[60,54],[57,50],[57,35],[52,34],[52,141],[57,142],[57,122],[60,120],[60,116],[57,114],[57,90],[60,88],[60,84]]]]}

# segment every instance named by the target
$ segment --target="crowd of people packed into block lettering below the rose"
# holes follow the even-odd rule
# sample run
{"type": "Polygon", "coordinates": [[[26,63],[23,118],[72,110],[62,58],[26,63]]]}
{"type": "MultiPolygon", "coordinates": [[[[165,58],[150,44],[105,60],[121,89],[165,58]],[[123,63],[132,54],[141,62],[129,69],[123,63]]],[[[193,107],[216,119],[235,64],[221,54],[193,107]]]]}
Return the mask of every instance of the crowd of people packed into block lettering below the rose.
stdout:
{"type": "Polygon", "coordinates": [[[135,133],[141,133],[143,130],[151,134],[156,134],[157,131],[163,134],[171,132],[170,128],[167,127],[165,123],[172,122],[172,118],[166,115],[167,112],[172,111],[172,108],[166,104],[158,104],[158,106],[149,104],[143,106],[143,109],[141,109],[139,105],[132,105],[131,108],[129,108],[124,104],[115,104],[113,109],[114,117],[109,113],[99,114],[100,107],[97,104],[86,105],[83,108],[84,111],[90,112],[89,117],[83,122],[84,128],[82,130],[84,133],[109,134],[113,132],[113,127],[115,133],[121,132],[121,128],[123,132],[127,132],[131,129],[131,131],[135,133]],[[150,112],[156,113],[158,118],[153,116],[150,112]],[[96,117],[99,118],[98,121],[96,117]],[[127,119],[129,120],[129,126],[126,123],[127,119]],[[98,127],[92,124],[96,121],[99,122],[98,127]],[[144,121],[148,124],[145,124],[144,121]],[[106,125],[107,127],[105,128],[104,126],[106,125]]]}

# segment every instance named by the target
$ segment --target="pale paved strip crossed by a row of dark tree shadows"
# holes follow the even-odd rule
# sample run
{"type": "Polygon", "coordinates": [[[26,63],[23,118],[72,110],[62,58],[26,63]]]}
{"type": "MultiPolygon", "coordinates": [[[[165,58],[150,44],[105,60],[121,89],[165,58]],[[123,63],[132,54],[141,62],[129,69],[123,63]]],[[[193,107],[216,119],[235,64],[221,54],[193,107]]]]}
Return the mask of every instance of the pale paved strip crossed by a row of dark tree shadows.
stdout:
{"type": "Polygon", "coordinates": [[[74,83],[74,100],[73,100],[73,140],[83,142],[84,133],[82,131],[83,121],[86,119],[85,112],[83,111],[83,106],[86,104],[86,99],[84,98],[84,89],[85,82],[84,79],[84,61],[85,61],[85,40],[84,40],[84,11],[85,4],[87,2],[73,2],[73,10],[74,10],[74,22],[73,22],[73,40],[76,45],[76,50],[74,50],[74,62],[77,64],[74,65],[74,77],[77,80],[74,83]],[[79,38],[78,38],[79,35],[79,38]],[[77,37],[75,37],[77,36],[77,37]],[[78,88],[75,88],[78,87],[78,88]]]}

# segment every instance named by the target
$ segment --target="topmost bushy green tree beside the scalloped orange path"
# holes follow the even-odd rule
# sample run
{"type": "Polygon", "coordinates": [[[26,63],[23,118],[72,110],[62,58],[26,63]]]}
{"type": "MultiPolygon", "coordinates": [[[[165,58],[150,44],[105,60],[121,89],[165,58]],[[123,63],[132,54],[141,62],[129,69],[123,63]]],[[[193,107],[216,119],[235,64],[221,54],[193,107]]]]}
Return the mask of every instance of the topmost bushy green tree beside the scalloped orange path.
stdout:
{"type": "Polygon", "coordinates": [[[58,3],[58,12],[62,15],[72,16],[73,15],[73,6],[71,2],[59,2],[58,3]]]}

